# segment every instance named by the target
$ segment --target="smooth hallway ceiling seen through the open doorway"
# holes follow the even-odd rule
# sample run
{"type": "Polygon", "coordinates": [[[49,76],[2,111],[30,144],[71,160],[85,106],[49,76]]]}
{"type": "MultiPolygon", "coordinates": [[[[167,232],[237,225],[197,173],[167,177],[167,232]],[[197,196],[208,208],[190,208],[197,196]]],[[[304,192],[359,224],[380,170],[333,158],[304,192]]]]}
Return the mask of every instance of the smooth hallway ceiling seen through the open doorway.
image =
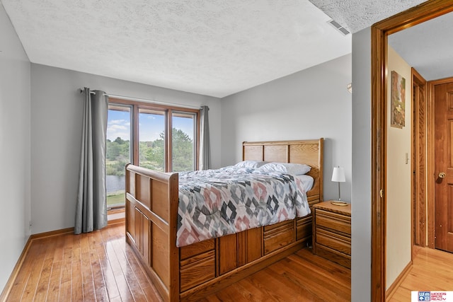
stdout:
{"type": "Polygon", "coordinates": [[[427,81],[453,76],[453,13],[389,35],[389,45],[427,81]]]}

